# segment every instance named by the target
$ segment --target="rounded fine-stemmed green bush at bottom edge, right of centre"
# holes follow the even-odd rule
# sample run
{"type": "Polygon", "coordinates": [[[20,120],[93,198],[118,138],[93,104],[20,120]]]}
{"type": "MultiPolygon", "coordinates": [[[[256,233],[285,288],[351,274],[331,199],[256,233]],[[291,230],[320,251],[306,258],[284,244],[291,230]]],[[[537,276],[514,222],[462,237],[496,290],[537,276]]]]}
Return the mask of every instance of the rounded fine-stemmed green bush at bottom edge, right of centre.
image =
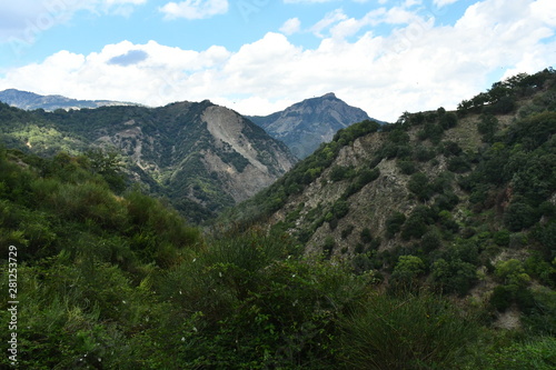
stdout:
{"type": "Polygon", "coordinates": [[[340,324],[342,362],[354,369],[451,369],[477,332],[468,317],[427,293],[375,293],[340,324]]]}

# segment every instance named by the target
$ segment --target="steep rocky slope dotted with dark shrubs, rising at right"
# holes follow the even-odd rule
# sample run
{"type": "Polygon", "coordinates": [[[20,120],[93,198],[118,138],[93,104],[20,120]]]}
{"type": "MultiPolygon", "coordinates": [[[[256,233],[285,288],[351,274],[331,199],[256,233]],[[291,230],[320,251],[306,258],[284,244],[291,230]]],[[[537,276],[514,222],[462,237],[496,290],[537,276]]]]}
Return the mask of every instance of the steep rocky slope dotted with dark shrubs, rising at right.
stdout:
{"type": "Polygon", "coordinates": [[[534,320],[545,299],[534,314],[553,314],[555,98],[547,69],[495,83],[457,112],[405,113],[378,132],[355,124],[236,218],[288,231],[307,254],[379,271],[393,289],[473,294],[500,326],[534,320]],[[504,319],[510,307],[524,317],[504,319]]]}

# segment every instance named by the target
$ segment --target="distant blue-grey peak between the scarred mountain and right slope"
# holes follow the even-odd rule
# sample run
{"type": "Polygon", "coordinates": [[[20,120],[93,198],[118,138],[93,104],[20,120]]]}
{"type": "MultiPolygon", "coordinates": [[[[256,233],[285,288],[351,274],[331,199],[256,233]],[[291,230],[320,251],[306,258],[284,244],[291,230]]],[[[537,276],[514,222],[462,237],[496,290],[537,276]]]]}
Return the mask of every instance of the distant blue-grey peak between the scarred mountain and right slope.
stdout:
{"type": "Polygon", "coordinates": [[[298,102],[270,116],[249,116],[270,136],[284,141],[294,154],[302,159],[322,142],[351,123],[370,119],[365,111],[350,107],[334,93],[298,102]]]}

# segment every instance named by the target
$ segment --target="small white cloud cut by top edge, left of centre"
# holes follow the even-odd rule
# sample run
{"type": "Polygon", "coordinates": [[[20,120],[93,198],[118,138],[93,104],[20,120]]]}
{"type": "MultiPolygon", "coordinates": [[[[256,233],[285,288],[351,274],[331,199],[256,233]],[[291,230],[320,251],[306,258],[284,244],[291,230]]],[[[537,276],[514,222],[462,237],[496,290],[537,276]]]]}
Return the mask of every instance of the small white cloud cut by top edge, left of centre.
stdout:
{"type": "Polygon", "coordinates": [[[228,0],[186,0],[169,2],[160,11],[166,19],[206,19],[228,12],[228,0]]]}

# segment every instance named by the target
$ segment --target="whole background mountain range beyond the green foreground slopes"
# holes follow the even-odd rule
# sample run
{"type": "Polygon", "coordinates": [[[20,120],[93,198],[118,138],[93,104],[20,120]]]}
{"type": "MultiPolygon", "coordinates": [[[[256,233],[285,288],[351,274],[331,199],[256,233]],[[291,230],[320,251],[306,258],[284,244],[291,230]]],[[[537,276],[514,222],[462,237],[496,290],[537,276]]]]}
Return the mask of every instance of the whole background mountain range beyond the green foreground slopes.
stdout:
{"type": "Polygon", "coordinates": [[[1,109],[8,147],[41,156],[119,152],[130,179],[193,221],[252,197],[337,130],[368,119],[334,93],[267,117],[242,117],[208,100],[147,108],[10,89],[0,101],[22,109],[1,109]]]}

